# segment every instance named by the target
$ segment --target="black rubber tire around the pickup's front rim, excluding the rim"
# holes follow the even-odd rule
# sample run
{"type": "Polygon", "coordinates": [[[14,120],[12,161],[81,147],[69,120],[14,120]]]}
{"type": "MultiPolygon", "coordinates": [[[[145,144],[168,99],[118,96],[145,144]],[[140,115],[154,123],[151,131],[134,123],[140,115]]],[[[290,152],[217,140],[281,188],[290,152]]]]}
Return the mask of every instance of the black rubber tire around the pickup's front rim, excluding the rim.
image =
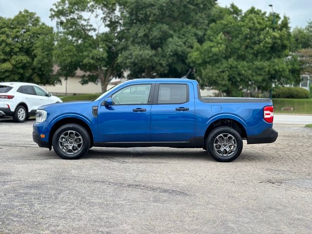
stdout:
{"type": "Polygon", "coordinates": [[[52,138],[52,146],[54,151],[57,153],[58,156],[60,156],[63,159],[78,159],[82,156],[84,156],[90,147],[90,136],[88,132],[80,125],[78,124],[65,124],[54,133],[53,138],[52,138]],[[83,140],[83,145],[82,148],[79,152],[73,155],[68,155],[64,153],[60,148],[59,148],[59,137],[66,131],[74,130],[80,134],[83,140]]]}

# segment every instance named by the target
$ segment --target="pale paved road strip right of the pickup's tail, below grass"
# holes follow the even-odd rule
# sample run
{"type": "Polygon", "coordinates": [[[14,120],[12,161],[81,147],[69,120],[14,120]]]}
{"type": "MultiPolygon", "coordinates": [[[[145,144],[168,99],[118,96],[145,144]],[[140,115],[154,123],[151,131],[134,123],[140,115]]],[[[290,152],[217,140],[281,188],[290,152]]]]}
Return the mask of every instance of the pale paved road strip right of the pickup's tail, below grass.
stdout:
{"type": "Polygon", "coordinates": [[[306,124],[312,124],[312,115],[274,114],[274,124],[286,126],[305,126],[306,124]]]}

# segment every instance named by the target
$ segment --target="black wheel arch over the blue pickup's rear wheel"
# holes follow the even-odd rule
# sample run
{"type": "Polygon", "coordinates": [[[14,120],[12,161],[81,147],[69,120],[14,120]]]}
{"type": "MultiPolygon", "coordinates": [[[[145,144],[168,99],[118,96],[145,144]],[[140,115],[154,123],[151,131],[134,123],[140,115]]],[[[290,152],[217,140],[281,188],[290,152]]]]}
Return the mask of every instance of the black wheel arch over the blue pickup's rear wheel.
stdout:
{"type": "Polygon", "coordinates": [[[206,148],[206,140],[207,140],[209,133],[211,133],[215,128],[223,127],[223,126],[234,128],[242,137],[242,139],[247,139],[247,132],[242,123],[240,123],[239,121],[231,117],[218,118],[214,120],[212,123],[210,123],[210,125],[207,127],[205,131],[204,142],[203,142],[204,149],[206,148]]]}

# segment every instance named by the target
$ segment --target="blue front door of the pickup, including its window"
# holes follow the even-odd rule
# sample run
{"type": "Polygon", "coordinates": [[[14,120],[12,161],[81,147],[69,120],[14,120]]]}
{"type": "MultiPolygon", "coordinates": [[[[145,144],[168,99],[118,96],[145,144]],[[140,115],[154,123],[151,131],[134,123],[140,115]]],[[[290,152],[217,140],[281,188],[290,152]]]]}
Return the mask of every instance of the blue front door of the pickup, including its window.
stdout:
{"type": "Polygon", "coordinates": [[[119,89],[111,98],[114,104],[98,106],[100,142],[150,140],[152,84],[134,84],[119,89]]]}

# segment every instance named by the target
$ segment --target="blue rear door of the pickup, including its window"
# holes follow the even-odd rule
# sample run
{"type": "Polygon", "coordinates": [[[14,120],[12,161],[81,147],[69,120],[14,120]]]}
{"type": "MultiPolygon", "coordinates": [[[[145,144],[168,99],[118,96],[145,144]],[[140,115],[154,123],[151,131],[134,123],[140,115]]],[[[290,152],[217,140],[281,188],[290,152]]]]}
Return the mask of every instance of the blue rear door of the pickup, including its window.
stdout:
{"type": "Polygon", "coordinates": [[[185,141],[193,138],[194,132],[193,84],[157,84],[151,110],[151,141],[185,141]]]}

